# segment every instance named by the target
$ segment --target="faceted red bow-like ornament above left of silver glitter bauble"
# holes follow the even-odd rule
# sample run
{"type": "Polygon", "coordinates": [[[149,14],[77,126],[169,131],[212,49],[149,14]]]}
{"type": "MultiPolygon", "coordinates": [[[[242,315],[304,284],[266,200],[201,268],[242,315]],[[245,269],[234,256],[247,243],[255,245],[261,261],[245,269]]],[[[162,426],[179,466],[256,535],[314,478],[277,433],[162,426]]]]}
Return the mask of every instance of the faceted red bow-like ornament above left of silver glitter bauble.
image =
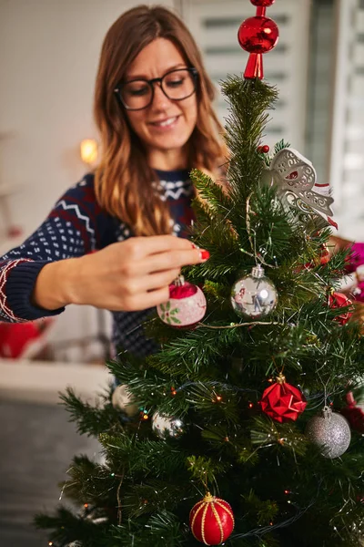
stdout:
{"type": "Polygon", "coordinates": [[[297,387],[288,384],[281,373],[276,379],[277,383],[264,391],[261,409],[280,423],[296,421],[307,406],[306,398],[297,387]]]}

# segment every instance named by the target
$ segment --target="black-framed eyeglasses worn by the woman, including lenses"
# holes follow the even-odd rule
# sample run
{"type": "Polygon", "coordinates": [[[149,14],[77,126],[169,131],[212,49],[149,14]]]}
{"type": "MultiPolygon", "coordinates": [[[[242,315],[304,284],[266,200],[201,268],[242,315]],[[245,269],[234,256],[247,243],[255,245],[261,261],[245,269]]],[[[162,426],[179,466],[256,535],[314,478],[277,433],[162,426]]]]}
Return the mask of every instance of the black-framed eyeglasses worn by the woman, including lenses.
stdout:
{"type": "Polygon", "coordinates": [[[154,84],[159,84],[170,100],[183,100],[193,95],[197,88],[198,72],[196,68],[177,68],[163,77],[153,79],[135,79],[119,84],[114,89],[116,96],[127,110],[142,110],[152,104],[154,84]]]}

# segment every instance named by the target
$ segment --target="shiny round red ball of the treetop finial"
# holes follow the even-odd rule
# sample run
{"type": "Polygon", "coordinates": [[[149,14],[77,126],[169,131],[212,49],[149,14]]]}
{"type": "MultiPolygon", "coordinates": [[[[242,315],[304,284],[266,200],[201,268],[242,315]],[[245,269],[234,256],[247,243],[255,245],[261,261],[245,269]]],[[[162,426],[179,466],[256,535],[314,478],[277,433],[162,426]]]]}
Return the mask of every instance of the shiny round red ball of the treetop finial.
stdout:
{"type": "Polygon", "coordinates": [[[238,29],[238,43],[249,53],[267,53],[278,41],[278,26],[268,17],[249,17],[238,29]]]}

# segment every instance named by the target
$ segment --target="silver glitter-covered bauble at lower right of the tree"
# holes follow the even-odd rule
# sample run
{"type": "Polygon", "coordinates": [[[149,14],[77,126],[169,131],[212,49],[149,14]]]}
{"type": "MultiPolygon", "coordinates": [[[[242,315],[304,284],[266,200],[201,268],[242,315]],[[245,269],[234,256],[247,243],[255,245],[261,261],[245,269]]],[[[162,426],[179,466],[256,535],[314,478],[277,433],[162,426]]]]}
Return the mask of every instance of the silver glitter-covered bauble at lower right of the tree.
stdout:
{"type": "Polygon", "coordinates": [[[339,458],[349,448],[351,439],[348,421],[329,407],[309,420],[305,434],[329,459],[339,458]]]}

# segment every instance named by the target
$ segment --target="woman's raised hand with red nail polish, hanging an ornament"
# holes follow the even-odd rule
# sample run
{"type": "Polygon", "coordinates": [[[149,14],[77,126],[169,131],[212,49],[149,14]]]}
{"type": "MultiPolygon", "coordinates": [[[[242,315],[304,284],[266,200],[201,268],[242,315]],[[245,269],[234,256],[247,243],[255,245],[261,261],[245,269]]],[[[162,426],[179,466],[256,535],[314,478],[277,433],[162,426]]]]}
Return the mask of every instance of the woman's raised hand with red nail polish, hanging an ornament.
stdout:
{"type": "Polygon", "coordinates": [[[45,264],[33,294],[35,305],[53,310],[89,304],[137,311],[167,302],[168,285],[181,267],[204,263],[209,254],[173,235],[133,237],[101,251],[45,264]]]}

